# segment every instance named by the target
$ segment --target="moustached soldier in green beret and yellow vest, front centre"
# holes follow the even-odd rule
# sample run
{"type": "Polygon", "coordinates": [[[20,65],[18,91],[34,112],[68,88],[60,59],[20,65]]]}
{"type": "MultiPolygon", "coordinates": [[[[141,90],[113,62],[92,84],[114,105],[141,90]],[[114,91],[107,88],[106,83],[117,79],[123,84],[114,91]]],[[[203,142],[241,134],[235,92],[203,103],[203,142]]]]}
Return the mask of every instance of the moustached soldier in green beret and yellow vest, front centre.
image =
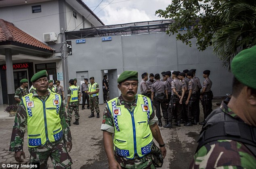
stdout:
{"type": "Polygon", "coordinates": [[[118,83],[118,88],[122,94],[107,103],[101,125],[109,168],[155,169],[150,153],[150,150],[153,149],[153,145],[151,144],[153,137],[159,143],[163,157],[166,156],[166,148],[160,130],[156,124],[157,117],[154,114],[151,100],[143,95],[136,95],[138,90],[138,72],[124,71],[118,77],[118,83]],[[143,104],[141,105],[140,103],[143,104]],[[124,118],[124,120],[122,120],[122,118],[124,118]],[[134,120],[134,124],[132,124],[132,119],[134,120]],[[146,119],[146,121],[144,121],[144,119],[146,119]],[[140,128],[138,125],[140,125],[140,128]],[[137,135],[133,136],[134,132],[130,130],[132,128],[136,130],[136,132],[134,132],[137,135]],[[143,130],[145,133],[140,132],[140,134],[138,134],[138,130],[143,130]],[[114,141],[112,138],[113,134],[114,141]],[[145,150],[145,154],[142,155],[142,157],[140,156],[141,149],[143,149],[141,146],[145,145],[141,145],[138,142],[136,142],[136,145],[133,145],[135,137],[137,141],[144,139],[145,142],[141,144],[147,144],[147,141],[150,142],[150,146],[147,147],[150,149],[145,150]],[[124,140],[127,140],[127,143],[124,140]],[[118,144],[118,142],[121,143],[118,144]],[[128,153],[122,153],[122,150],[120,151],[118,148],[118,145],[122,146],[124,144],[127,145],[126,148],[128,148],[128,150],[126,151],[128,151],[128,153]],[[132,153],[131,150],[129,154],[129,147],[133,149],[134,146],[141,149],[137,151],[137,153],[132,153]]]}

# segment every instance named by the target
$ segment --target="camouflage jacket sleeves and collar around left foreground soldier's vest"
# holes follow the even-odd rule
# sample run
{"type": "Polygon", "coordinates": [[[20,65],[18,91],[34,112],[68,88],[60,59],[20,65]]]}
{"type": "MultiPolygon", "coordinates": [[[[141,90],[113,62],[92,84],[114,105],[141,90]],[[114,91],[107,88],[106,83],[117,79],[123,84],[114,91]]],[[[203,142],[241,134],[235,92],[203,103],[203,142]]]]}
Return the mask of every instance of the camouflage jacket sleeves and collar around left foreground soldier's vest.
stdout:
{"type": "MultiPolygon", "coordinates": [[[[44,97],[39,97],[42,101],[44,101],[51,93],[48,92],[48,95],[44,97]]],[[[33,93],[32,97],[38,97],[38,94],[36,91],[33,93]]],[[[65,108],[63,106],[63,102],[61,103],[60,111],[59,111],[59,117],[61,118],[61,125],[63,130],[63,140],[65,142],[69,142],[72,140],[71,132],[69,129],[69,126],[67,124],[67,115],[65,113],[65,108]]],[[[23,144],[24,144],[24,134],[25,134],[25,128],[27,125],[27,112],[25,110],[24,103],[21,101],[19,103],[19,107],[17,109],[17,113],[15,116],[14,124],[13,124],[13,132],[10,140],[10,148],[9,151],[23,151],[23,144]]],[[[60,142],[60,141],[59,141],[60,142]]],[[[38,149],[44,149],[46,145],[38,146],[38,149]]]]}

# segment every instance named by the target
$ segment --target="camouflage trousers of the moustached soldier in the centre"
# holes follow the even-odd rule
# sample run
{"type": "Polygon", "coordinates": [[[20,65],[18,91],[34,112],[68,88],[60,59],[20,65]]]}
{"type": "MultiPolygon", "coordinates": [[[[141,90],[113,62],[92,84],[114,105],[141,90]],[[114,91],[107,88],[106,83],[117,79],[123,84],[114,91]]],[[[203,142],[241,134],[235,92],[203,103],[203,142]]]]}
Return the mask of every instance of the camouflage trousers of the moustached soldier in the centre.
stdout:
{"type": "Polygon", "coordinates": [[[115,153],[115,159],[121,165],[122,169],[155,169],[150,154],[141,158],[135,155],[134,159],[126,159],[115,153]]]}

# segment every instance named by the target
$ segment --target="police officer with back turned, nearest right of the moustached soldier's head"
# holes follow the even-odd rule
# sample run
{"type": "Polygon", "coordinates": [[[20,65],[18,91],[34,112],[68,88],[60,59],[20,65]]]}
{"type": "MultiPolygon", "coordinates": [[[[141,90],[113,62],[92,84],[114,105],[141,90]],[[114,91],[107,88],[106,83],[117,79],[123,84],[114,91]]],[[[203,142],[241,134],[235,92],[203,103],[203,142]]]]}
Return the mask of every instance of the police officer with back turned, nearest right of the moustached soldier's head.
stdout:
{"type": "Polygon", "coordinates": [[[167,105],[166,99],[168,100],[168,92],[167,86],[165,82],[160,81],[160,75],[155,74],[156,82],[152,85],[151,88],[151,100],[153,101],[153,105],[156,108],[156,116],[158,118],[158,126],[162,127],[162,115],[160,111],[160,106],[162,108],[164,119],[167,120],[167,105]]]}

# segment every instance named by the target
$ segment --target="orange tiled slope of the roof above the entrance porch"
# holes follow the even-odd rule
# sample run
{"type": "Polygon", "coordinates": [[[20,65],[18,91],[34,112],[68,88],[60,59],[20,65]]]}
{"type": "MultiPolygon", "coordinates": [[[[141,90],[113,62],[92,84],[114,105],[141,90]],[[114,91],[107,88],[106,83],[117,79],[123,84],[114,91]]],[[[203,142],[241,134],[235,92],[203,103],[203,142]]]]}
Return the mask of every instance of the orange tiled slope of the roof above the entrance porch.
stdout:
{"type": "Polygon", "coordinates": [[[50,51],[55,50],[48,45],[42,43],[41,41],[37,40],[36,38],[30,36],[29,34],[21,31],[20,29],[15,27],[13,23],[4,21],[3,19],[0,19],[0,42],[1,41],[15,41],[34,47],[40,47],[42,49],[47,49],[50,51]]]}

